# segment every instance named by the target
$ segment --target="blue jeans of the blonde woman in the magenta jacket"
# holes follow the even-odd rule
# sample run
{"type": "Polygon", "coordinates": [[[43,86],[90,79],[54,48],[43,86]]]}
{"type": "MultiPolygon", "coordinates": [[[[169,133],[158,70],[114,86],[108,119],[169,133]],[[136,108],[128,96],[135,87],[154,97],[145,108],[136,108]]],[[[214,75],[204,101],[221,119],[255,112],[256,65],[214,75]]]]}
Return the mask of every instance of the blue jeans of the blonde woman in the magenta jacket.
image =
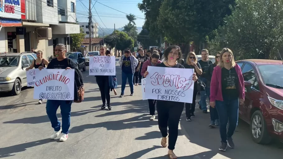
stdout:
{"type": "Polygon", "coordinates": [[[215,106],[218,111],[220,123],[220,137],[221,141],[226,143],[226,140],[231,138],[238,125],[239,116],[239,99],[231,99],[222,101],[215,101],[215,106]],[[226,130],[229,120],[228,132],[226,130]]]}

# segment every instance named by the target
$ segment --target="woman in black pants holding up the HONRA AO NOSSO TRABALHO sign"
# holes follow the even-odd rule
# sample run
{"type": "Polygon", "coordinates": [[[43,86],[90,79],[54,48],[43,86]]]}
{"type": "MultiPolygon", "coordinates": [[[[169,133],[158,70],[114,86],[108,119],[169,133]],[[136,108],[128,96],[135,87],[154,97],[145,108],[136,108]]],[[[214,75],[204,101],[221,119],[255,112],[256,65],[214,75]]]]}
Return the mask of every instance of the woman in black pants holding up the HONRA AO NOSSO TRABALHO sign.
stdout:
{"type": "MultiPolygon", "coordinates": [[[[100,56],[111,56],[111,54],[106,55],[105,51],[106,51],[105,46],[101,45],[100,48],[99,48],[100,56]]],[[[99,87],[100,95],[101,95],[101,99],[102,99],[101,109],[102,110],[105,109],[106,104],[107,104],[108,110],[112,110],[112,107],[111,107],[111,104],[110,104],[109,76],[101,76],[101,75],[98,76],[98,75],[96,75],[95,78],[96,78],[96,83],[99,87]]],[[[114,93],[115,93],[115,91],[114,91],[114,93]]]]}

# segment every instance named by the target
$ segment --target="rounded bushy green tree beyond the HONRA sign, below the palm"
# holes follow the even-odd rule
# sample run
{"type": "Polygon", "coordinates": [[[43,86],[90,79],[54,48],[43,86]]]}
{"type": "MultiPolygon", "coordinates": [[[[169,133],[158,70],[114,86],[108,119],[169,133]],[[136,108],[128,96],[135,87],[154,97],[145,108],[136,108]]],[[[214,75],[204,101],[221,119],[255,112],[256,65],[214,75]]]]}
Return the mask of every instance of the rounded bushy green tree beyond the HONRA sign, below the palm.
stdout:
{"type": "Polygon", "coordinates": [[[111,48],[114,48],[116,44],[117,50],[124,50],[125,48],[131,49],[134,47],[134,40],[123,31],[116,30],[112,34],[107,35],[105,38],[113,39],[111,41],[106,41],[106,43],[109,44],[111,48]]]}

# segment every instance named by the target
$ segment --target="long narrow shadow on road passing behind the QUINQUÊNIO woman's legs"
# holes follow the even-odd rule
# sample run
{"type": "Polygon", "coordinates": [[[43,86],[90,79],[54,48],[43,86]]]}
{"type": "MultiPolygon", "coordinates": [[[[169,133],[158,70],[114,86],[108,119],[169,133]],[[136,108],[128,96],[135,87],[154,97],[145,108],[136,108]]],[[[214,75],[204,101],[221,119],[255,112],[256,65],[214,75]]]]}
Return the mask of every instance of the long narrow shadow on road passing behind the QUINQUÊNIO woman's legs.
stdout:
{"type": "MultiPolygon", "coordinates": [[[[71,116],[83,116],[88,113],[92,113],[95,111],[100,111],[98,109],[89,109],[89,110],[83,110],[83,111],[75,111],[71,112],[71,116]]],[[[58,118],[61,118],[61,114],[57,114],[58,118]]],[[[49,118],[47,115],[44,116],[33,116],[33,117],[27,117],[27,118],[22,118],[22,119],[16,119],[12,121],[5,121],[3,124],[39,124],[39,123],[46,123],[50,122],[49,118]]]]}

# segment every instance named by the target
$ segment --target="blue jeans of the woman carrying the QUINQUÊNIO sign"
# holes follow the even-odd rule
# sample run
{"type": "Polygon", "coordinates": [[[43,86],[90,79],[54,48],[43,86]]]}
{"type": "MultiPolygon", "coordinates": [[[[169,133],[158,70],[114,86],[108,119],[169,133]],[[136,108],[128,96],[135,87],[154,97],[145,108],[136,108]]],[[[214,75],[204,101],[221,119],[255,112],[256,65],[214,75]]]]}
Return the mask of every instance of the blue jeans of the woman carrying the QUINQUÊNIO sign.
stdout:
{"type": "Polygon", "coordinates": [[[63,100],[47,100],[46,102],[46,113],[51,122],[51,126],[54,131],[59,131],[61,128],[61,123],[57,118],[56,112],[58,107],[61,109],[62,116],[62,131],[61,133],[68,134],[71,122],[71,103],[63,100]]]}

